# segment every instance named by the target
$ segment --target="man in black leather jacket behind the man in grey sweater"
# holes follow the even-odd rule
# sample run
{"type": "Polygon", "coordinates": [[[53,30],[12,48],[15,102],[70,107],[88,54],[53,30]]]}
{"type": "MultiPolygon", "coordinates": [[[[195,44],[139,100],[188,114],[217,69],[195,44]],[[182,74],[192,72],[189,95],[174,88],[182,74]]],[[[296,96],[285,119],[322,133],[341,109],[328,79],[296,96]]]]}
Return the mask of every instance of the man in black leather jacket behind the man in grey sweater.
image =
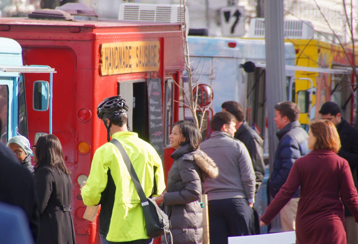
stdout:
{"type": "Polygon", "coordinates": [[[236,118],[236,133],[234,138],[245,144],[250,154],[253,170],[256,175],[256,193],[260,188],[265,175],[265,163],[263,162],[263,140],[245,121],[245,113],[240,103],[226,101],[221,105],[222,111],[228,111],[236,118]]]}

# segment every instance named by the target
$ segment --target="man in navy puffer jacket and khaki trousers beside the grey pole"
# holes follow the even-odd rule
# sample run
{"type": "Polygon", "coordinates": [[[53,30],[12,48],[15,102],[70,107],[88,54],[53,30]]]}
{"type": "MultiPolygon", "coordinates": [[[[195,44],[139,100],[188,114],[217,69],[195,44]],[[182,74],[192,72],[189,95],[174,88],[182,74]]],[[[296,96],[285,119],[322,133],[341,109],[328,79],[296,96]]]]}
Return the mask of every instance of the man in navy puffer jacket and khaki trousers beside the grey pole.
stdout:
{"type": "MultiPolygon", "coordinates": [[[[279,145],[275,153],[275,161],[269,180],[269,191],[275,197],[282,185],[285,184],[295,160],[309,152],[307,132],[301,128],[298,121],[300,108],[291,101],[275,105],[275,122],[279,131],[279,145]]],[[[299,191],[280,211],[282,231],[294,231],[299,191]]]]}

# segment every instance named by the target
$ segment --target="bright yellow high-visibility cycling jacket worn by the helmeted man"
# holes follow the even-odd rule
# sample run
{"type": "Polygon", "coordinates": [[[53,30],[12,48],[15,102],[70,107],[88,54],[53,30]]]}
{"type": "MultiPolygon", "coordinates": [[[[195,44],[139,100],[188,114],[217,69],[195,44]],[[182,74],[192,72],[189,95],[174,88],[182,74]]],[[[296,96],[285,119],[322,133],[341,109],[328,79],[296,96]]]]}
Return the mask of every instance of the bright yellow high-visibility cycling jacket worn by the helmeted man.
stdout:
{"type": "MultiPolygon", "coordinates": [[[[163,165],[155,149],[137,133],[120,131],[112,135],[126,150],[147,197],[165,189],[163,165]]],[[[81,195],[84,204],[101,204],[100,234],[109,241],[149,238],[138,193],[123,161],[112,143],[98,148],[81,195]]]]}

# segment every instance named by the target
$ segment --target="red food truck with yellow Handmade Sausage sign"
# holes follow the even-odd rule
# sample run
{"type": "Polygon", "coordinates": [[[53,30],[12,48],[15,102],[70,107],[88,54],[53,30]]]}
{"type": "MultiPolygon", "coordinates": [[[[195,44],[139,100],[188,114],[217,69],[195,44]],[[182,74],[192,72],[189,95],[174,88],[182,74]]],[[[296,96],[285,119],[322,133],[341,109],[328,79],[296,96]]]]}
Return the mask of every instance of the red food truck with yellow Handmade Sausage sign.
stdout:
{"type": "MultiPolygon", "coordinates": [[[[173,151],[169,133],[173,121],[183,114],[174,102],[179,100],[175,83],[184,67],[182,28],[180,24],[71,20],[59,10],[29,16],[34,18],[1,18],[0,36],[18,41],[24,65],[49,65],[57,71],[51,88],[52,131],[72,172],[76,239],[99,243],[96,222],[83,219],[86,206],[79,191],[95,150],[107,142],[97,105],[108,96],[122,95],[130,106],[130,128],[158,150],[167,174],[173,151]]],[[[37,133],[49,132],[49,111],[31,106],[33,83],[41,79],[48,80],[48,74],[24,75],[31,144],[37,133]]]]}

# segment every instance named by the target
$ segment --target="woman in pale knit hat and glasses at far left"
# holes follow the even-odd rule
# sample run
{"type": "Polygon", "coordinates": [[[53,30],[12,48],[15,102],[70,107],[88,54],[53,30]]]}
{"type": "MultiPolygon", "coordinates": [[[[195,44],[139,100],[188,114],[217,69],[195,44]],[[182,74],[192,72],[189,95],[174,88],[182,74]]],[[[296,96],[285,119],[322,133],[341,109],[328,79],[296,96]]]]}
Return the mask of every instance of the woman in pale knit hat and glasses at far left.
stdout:
{"type": "Polygon", "coordinates": [[[8,141],[8,148],[10,148],[19,159],[22,165],[34,173],[34,166],[31,165],[32,150],[30,148],[29,140],[22,135],[17,135],[8,141]]]}

